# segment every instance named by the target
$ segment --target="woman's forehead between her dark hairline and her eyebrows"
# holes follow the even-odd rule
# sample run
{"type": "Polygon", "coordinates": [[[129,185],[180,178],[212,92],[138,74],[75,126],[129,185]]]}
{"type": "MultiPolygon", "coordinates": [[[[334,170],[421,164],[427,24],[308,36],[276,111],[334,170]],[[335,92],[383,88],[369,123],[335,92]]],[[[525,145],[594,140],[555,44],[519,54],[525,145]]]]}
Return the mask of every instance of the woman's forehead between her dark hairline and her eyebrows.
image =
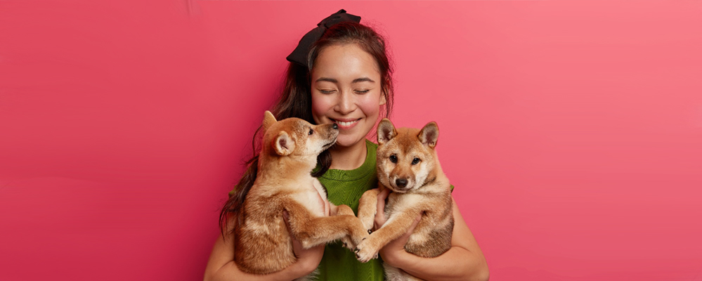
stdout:
{"type": "Polygon", "coordinates": [[[378,80],[378,64],[370,53],[357,44],[327,46],[320,51],[312,69],[312,80],[319,77],[351,81],[359,77],[378,80]]]}

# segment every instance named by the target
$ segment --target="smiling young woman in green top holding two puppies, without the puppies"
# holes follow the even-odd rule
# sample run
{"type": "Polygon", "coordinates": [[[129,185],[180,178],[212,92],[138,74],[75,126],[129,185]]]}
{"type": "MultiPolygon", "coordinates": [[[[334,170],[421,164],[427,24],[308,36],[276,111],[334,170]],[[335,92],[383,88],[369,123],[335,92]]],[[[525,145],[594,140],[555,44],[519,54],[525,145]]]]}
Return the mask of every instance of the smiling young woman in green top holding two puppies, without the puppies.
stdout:
{"type": "MultiPolygon", "coordinates": [[[[365,137],[380,116],[390,115],[393,101],[392,70],[384,39],[359,21],[360,17],[342,10],[325,18],[301,39],[287,58],[291,63],[285,89],[273,110],[276,119],[298,117],[313,124],[339,126],[336,145],[320,155],[313,175],[327,188],[330,202],[349,205],[354,211],[363,192],[377,188],[377,145],[365,137]]],[[[242,273],[233,261],[236,249],[231,230],[255,180],[256,164],[254,157],[222,209],[224,235],[214,244],[205,280],[293,280],[317,268],[319,280],[384,280],[382,262],[425,280],[488,280],[486,261],[455,202],[452,247],[441,256],[427,259],[403,249],[412,226],[380,251],[382,261],[360,263],[340,243],[302,249],[293,241],[298,260],[292,266],[269,275],[242,273]]],[[[375,228],[384,223],[382,208],[388,192],[386,188],[378,196],[375,228]]]]}

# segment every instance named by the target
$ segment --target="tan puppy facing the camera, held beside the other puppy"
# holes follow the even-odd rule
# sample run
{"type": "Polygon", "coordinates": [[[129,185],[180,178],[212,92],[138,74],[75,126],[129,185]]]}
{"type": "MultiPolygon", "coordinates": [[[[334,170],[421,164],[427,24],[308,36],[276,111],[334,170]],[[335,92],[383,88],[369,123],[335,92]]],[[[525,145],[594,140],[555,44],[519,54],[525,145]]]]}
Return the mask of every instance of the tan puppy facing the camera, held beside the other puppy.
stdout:
{"type": "MultiPolygon", "coordinates": [[[[424,214],[405,244],[405,251],[434,257],[448,251],[453,233],[453,200],[448,178],[436,157],[438,126],[430,122],[422,130],[395,129],[383,119],[378,124],[377,170],[379,184],[390,188],[384,225],[356,247],[358,261],[377,257],[378,251],[409,230],[424,214]]],[[[369,228],[377,211],[377,190],[363,194],[358,217],[369,228]]],[[[420,280],[384,264],[388,280],[420,280]]]]}

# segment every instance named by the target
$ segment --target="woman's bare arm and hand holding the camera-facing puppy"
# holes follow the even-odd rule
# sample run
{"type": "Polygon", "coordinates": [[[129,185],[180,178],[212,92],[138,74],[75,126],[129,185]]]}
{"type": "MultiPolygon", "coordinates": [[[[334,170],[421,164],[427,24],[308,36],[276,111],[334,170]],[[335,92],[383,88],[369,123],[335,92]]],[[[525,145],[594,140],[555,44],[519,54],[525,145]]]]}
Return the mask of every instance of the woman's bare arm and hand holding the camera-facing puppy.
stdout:
{"type": "MultiPolygon", "coordinates": [[[[379,201],[381,197],[383,196],[378,196],[379,201]]],[[[382,200],[384,202],[384,198],[382,200]]],[[[425,280],[488,280],[488,264],[478,242],[463,220],[455,200],[453,200],[453,220],[451,248],[440,256],[422,258],[405,251],[405,243],[419,220],[405,235],[381,249],[379,254],[390,266],[401,268],[425,280]]]]}

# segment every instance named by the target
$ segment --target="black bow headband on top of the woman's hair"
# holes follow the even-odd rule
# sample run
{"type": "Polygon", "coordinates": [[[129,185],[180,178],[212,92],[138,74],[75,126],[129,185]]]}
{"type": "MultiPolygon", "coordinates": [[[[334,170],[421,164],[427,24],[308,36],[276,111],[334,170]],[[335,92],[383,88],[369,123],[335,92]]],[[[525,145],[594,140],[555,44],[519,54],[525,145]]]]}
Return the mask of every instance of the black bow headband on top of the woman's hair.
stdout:
{"type": "Polygon", "coordinates": [[[297,63],[307,67],[307,55],[312,44],[322,37],[322,34],[327,31],[327,28],[331,27],[332,25],[336,25],[339,22],[360,22],[360,17],[358,15],[346,13],[344,9],[339,10],[337,13],[333,13],[324,20],[320,21],[317,24],[317,27],[315,27],[313,30],[307,32],[307,34],[300,39],[300,42],[297,44],[297,48],[295,48],[295,50],[292,51],[292,53],[290,53],[286,59],[291,63],[297,63]]]}

